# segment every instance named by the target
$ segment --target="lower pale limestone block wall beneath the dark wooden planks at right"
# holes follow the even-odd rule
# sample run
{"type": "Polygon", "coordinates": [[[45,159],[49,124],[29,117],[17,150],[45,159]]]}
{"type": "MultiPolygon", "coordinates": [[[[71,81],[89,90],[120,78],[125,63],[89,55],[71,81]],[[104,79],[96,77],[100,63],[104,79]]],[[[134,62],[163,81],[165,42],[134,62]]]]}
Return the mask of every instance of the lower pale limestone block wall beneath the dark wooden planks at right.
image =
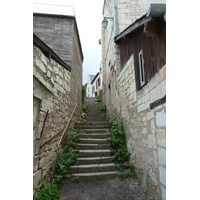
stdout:
{"type": "Polygon", "coordinates": [[[166,199],[166,105],[150,108],[150,103],[166,95],[166,66],[139,91],[134,70],[132,55],[117,78],[117,89],[111,78],[107,109],[122,118],[142,188],[155,199],[166,199]]]}

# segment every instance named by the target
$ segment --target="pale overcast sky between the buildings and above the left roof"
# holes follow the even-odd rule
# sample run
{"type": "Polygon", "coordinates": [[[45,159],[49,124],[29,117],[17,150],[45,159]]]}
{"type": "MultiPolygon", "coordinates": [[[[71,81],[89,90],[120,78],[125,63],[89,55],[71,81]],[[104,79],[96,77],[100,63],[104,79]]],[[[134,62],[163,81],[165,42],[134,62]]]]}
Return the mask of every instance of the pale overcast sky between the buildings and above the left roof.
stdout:
{"type": "Polygon", "coordinates": [[[34,3],[70,5],[74,7],[81,39],[83,61],[83,84],[88,74],[96,75],[101,62],[102,9],[104,0],[34,0],[34,3]]]}

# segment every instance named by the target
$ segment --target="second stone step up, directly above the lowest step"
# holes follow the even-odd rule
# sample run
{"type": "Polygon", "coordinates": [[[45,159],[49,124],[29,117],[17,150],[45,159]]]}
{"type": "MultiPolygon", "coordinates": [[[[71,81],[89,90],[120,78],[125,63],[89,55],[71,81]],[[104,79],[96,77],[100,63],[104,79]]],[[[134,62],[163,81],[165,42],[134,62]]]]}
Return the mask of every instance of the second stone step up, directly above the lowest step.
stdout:
{"type": "Polygon", "coordinates": [[[71,166],[68,169],[69,174],[73,173],[91,173],[91,172],[106,172],[116,171],[117,168],[114,163],[105,164],[89,164],[89,165],[77,165],[71,166]]]}

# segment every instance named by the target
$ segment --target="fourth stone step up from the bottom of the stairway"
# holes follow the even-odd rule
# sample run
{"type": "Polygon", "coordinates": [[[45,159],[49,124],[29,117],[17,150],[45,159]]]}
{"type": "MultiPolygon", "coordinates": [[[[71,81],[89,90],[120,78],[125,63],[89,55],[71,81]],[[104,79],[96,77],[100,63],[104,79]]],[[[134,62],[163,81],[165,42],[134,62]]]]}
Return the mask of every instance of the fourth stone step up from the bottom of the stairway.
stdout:
{"type": "Polygon", "coordinates": [[[111,156],[110,149],[79,150],[79,157],[111,156]]]}

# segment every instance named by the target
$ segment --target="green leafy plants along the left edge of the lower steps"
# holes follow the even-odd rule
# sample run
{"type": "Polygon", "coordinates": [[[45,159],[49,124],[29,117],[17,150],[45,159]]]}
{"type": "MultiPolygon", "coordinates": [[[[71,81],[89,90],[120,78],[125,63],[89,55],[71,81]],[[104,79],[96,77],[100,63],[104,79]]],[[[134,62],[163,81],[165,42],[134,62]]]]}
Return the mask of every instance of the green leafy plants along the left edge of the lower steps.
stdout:
{"type": "Polygon", "coordinates": [[[59,189],[63,174],[67,173],[71,165],[77,164],[78,155],[75,153],[75,147],[79,139],[76,131],[68,132],[69,140],[66,145],[59,149],[55,163],[55,175],[51,182],[42,181],[37,186],[33,200],[59,200],[59,189]]]}

